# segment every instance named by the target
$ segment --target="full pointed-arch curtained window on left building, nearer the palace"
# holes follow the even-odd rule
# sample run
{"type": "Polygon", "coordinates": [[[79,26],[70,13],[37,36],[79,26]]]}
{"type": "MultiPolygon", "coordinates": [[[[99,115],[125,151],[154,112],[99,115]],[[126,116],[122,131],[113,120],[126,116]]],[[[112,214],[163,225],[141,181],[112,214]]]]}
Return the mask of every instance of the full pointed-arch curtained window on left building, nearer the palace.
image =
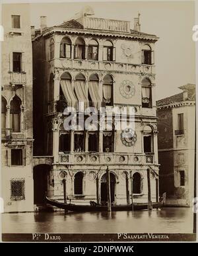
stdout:
{"type": "Polygon", "coordinates": [[[13,132],[20,132],[20,105],[21,101],[18,96],[15,95],[11,101],[11,128],[13,132]]]}

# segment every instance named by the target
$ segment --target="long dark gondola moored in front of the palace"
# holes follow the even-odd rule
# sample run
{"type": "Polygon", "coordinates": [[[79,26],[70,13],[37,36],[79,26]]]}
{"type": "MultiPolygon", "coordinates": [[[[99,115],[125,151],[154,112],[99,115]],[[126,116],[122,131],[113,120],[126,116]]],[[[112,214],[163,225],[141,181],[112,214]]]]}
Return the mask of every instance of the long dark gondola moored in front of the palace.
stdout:
{"type": "MultiPolygon", "coordinates": [[[[108,206],[101,204],[96,204],[94,201],[90,201],[90,205],[77,205],[77,204],[65,204],[64,202],[59,202],[57,200],[49,199],[46,196],[46,201],[48,204],[55,206],[57,208],[70,210],[73,212],[107,212],[108,206]]],[[[160,202],[153,202],[152,208],[161,208],[163,206],[164,199],[160,202]]],[[[112,211],[131,211],[131,210],[147,210],[148,203],[135,202],[132,204],[117,204],[112,205],[112,211]]]]}

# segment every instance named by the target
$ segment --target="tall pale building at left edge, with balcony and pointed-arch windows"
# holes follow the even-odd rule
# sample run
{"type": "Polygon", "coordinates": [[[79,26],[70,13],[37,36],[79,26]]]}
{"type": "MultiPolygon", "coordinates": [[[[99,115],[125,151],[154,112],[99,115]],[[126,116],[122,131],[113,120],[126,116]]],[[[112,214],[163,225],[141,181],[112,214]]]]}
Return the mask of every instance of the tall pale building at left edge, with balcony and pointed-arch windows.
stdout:
{"type": "Polygon", "coordinates": [[[28,4],[3,4],[1,194],[5,212],[34,210],[32,44],[28,4]]]}

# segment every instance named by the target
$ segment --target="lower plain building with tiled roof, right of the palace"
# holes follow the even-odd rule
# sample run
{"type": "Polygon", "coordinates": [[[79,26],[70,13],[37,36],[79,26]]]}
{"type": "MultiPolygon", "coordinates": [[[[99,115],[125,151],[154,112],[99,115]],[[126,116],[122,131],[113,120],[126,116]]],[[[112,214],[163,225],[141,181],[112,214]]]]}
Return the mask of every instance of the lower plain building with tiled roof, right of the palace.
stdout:
{"type": "Polygon", "coordinates": [[[192,204],[195,173],[195,85],[157,101],[160,193],[166,204],[192,204]]]}

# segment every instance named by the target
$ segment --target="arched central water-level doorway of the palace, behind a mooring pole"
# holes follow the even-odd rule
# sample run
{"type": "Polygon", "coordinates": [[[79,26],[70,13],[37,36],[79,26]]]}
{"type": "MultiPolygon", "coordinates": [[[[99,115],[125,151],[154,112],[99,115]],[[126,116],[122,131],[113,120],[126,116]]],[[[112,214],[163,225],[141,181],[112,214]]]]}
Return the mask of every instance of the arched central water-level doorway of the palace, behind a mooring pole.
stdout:
{"type": "MultiPolygon", "coordinates": [[[[113,173],[110,173],[111,202],[115,201],[115,189],[116,189],[116,177],[113,173]]],[[[101,203],[107,202],[106,173],[104,173],[104,175],[102,175],[102,178],[100,181],[100,201],[101,201],[101,203]]]]}

